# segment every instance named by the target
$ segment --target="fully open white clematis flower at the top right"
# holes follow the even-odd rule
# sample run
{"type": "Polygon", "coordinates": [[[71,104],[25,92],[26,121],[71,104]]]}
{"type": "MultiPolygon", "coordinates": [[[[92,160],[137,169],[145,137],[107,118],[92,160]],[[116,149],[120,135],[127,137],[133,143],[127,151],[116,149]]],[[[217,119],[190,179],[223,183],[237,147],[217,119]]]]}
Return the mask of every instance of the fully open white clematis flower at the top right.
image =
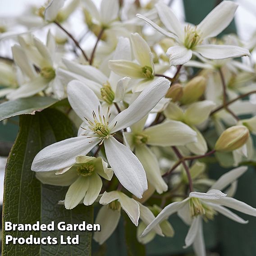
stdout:
{"type": "Polygon", "coordinates": [[[238,5],[232,1],[223,1],[194,27],[191,24],[185,26],[180,23],[172,9],[160,2],[155,5],[155,8],[169,32],[141,14],[137,14],[137,18],[143,19],[157,31],[176,41],[177,46],[170,47],[166,54],[169,56],[170,65],[182,65],[192,58],[193,53],[200,54],[207,59],[250,56],[247,49],[238,46],[203,44],[205,39],[217,36],[229,25],[237,7],[238,5]]]}

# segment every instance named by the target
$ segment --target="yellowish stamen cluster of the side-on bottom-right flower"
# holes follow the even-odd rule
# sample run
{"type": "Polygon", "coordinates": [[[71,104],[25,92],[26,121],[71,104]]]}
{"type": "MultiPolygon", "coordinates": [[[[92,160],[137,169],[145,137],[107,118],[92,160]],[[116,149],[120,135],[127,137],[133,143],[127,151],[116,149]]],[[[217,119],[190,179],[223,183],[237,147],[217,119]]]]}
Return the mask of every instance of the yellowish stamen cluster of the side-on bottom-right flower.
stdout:
{"type": "Polygon", "coordinates": [[[216,215],[216,211],[211,207],[202,204],[199,198],[191,197],[189,199],[189,210],[191,217],[197,217],[201,215],[205,221],[208,219],[213,219],[214,215],[216,215]]]}

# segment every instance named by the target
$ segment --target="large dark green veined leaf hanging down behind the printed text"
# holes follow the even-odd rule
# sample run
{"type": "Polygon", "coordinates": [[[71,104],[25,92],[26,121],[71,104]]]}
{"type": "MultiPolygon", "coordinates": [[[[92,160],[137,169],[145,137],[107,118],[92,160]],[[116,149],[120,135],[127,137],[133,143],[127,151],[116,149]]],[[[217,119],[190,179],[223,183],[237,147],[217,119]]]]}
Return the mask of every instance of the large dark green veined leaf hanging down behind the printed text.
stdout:
{"type": "MultiPolygon", "coordinates": [[[[74,136],[76,129],[73,123],[60,111],[44,110],[35,115],[20,117],[20,130],[10,152],[5,171],[5,192],[3,206],[3,223],[11,221],[15,224],[49,224],[55,221],[55,231],[3,231],[3,256],[26,255],[91,255],[91,233],[85,231],[58,231],[56,225],[60,221],[66,224],[81,224],[82,221],[92,223],[92,207],[83,205],[73,210],[64,209],[58,201],[64,199],[66,187],[47,186],[35,178],[31,171],[34,156],[43,147],[74,136]],[[59,236],[74,237],[79,235],[79,245],[60,245],[59,236]],[[6,235],[13,237],[57,237],[58,245],[13,245],[5,244],[6,235]]],[[[3,229],[4,230],[4,229],[3,229]]]]}

